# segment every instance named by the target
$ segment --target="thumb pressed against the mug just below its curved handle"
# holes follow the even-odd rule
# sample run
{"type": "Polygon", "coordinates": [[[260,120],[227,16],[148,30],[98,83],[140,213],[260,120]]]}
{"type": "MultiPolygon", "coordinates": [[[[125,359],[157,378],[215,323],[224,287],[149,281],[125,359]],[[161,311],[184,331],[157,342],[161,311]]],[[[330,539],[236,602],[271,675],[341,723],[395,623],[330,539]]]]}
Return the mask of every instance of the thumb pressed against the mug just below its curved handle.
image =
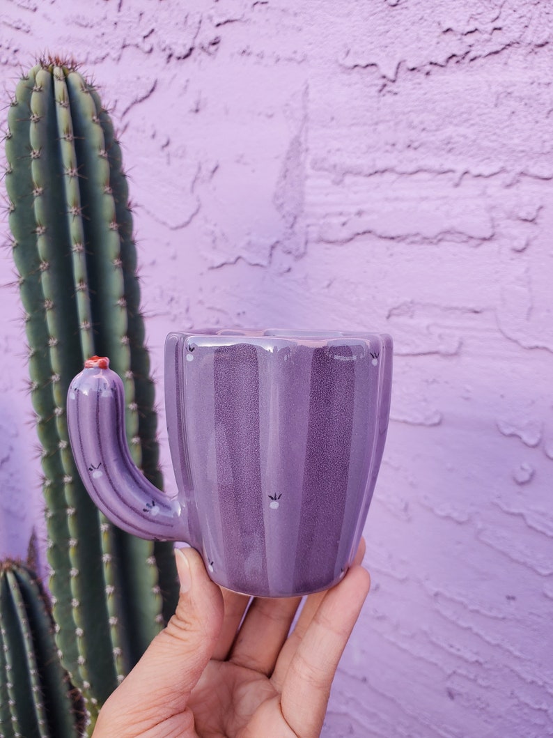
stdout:
{"type": "Polygon", "coordinates": [[[175,548],[181,595],[175,614],[148,647],[122,684],[105,703],[102,713],[124,711],[127,720],[148,726],[183,712],[206,668],[223,624],[223,595],[207,576],[204,562],[193,548],[175,548]]]}

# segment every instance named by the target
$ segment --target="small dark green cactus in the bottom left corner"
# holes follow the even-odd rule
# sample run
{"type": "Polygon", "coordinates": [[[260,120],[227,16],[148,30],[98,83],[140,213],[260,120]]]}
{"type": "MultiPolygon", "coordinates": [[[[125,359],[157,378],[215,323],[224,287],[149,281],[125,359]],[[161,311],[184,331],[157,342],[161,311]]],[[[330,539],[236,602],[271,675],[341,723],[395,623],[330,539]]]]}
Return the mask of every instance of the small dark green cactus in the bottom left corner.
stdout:
{"type": "Polygon", "coordinates": [[[0,564],[0,736],[77,738],[83,706],[63,670],[54,624],[34,573],[0,564]]]}

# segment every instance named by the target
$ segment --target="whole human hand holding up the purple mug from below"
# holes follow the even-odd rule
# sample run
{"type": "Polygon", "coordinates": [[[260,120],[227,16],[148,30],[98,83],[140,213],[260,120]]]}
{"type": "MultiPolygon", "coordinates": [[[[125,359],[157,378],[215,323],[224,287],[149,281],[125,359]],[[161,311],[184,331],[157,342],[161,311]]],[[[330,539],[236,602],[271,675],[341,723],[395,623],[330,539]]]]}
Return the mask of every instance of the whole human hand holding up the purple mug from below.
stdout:
{"type": "Polygon", "coordinates": [[[100,711],[94,738],[316,738],[338,661],[369,592],[364,541],[344,579],[306,598],[221,590],[176,550],[181,596],[100,711]],[[244,618],[244,613],[246,617],[244,618]],[[241,625],[240,625],[241,624],[241,625]]]}

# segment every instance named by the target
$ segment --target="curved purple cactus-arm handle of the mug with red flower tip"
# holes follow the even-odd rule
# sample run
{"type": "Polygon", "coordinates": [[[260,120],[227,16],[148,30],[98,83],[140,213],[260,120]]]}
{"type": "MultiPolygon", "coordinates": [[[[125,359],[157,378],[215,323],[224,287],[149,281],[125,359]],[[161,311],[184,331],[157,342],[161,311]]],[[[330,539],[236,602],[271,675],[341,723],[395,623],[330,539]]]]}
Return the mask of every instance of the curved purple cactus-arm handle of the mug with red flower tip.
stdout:
{"type": "Polygon", "coordinates": [[[128,533],[154,540],[188,539],[175,497],[134,465],[125,440],[124,389],[108,359],[88,359],[69,386],[67,422],[77,469],[100,510],[128,533]]]}

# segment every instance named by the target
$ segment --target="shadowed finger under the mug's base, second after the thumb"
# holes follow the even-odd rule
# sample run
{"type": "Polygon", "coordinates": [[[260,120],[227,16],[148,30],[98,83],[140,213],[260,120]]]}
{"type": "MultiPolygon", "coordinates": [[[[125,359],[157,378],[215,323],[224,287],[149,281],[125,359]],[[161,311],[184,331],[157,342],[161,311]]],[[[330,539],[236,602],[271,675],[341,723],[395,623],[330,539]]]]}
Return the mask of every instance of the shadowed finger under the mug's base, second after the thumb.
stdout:
{"type": "Polygon", "coordinates": [[[238,632],[230,661],[270,675],[301,601],[301,597],[255,599],[238,632]]]}

